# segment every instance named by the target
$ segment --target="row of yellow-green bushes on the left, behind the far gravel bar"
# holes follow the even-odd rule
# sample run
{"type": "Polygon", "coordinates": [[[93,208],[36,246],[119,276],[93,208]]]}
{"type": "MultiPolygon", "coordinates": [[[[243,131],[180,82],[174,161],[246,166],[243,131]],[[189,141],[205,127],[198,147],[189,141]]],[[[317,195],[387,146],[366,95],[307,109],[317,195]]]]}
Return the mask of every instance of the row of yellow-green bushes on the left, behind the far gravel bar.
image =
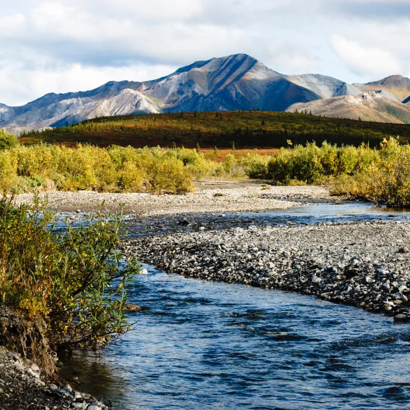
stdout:
{"type": "Polygon", "coordinates": [[[138,192],[166,189],[193,190],[192,178],[215,168],[195,150],[159,147],[109,149],[78,144],[75,148],[39,144],[0,152],[0,192],[34,187],[99,192],[138,192]]]}

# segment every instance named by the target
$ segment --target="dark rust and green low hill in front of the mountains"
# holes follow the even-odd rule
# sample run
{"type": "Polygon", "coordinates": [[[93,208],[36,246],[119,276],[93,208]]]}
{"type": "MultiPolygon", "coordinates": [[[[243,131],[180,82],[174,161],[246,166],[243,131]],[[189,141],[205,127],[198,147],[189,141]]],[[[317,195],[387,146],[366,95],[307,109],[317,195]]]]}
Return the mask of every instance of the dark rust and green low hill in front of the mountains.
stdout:
{"type": "Polygon", "coordinates": [[[133,147],[286,147],[315,140],[378,146],[383,138],[410,139],[410,126],[351,119],[324,118],[287,112],[230,111],[140,114],[99,117],[43,132],[23,132],[22,142],[39,141],[75,145],[78,142],[101,147],[112,144],[133,147]]]}

